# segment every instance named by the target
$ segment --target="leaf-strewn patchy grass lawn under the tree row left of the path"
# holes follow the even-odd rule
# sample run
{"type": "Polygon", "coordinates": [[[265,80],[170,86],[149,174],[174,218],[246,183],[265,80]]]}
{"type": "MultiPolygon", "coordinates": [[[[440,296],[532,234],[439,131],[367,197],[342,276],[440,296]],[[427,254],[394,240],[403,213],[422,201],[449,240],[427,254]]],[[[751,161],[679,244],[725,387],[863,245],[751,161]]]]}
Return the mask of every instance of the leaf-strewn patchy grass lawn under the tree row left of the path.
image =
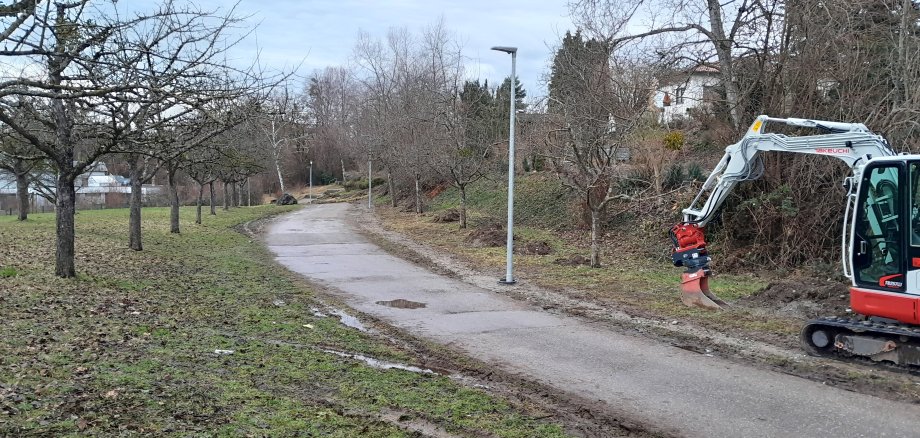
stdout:
{"type": "Polygon", "coordinates": [[[143,252],[127,249],[127,210],[81,211],[68,280],[53,275],[53,215],[0,218],[0,436],[413,435],[384,411],[462,435],[563,435],[447,377],[323,352],[415,361],[314,316],[311,290],[232,230],[288,209],[203,225],[183,209],[181,235],[166,209],[145,209],[143,252]]]}

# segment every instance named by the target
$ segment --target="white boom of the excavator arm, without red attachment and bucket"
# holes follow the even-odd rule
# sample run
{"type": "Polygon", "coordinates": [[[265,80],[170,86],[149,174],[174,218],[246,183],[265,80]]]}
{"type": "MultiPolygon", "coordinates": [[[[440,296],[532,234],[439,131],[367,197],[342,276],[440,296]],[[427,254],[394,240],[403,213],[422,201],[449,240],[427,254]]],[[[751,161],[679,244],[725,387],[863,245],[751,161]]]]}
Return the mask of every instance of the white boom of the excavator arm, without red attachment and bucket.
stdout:
{"type": "Polygon", "coordinates": [[[853,175],[859,175],[870,158],[895,155],[882,136],[869,131],[862,123],[759,116],[741,141],[725,148],[725,155],[706,178],[700,193],[690,203],[690,207],[683,210],[684,222],[695,223],[701,227],[706,225],[736,184],[760,178],[763,174],[763,163],[757,159],[757,153],[761,151],[795,152],[838,158],[850,166],[853,175]],[[823,129],[830,133],[798,137],[764,133],[767,122],[823,129]],[[706,202],[697,207],[700,198],[707,192],[709,196],[706,202]]]}

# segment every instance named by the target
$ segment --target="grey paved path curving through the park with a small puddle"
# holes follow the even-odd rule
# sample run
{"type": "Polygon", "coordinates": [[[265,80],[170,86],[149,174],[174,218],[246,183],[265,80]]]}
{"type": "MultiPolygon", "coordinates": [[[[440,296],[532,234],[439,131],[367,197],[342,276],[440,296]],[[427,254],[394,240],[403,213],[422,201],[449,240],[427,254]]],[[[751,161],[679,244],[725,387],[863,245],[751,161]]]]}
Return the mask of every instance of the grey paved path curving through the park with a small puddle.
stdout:
{"type": "Polygon", "coordinates": [[[917,437],[920,407],[624,335],[428,272],[348,224],[350,205],[311,205],[270,226],[277,260],[353,308],[633,421],[692,437],[917,437]],[[419,309],[376,304],[405,299],[419,309]]]}

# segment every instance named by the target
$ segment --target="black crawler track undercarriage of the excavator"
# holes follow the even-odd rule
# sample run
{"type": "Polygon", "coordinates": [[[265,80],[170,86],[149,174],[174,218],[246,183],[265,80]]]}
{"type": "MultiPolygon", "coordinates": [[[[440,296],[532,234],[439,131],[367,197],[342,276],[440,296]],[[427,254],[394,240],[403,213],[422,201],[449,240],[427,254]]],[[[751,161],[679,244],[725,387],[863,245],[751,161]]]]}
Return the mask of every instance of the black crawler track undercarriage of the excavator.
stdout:
{"type": "Polygon", "coordinates": [[[808,321],[801,339],[805,350],[815,356],[862,358],[910,370],[920,367],[920,326],[828,316],[808,321]]]}

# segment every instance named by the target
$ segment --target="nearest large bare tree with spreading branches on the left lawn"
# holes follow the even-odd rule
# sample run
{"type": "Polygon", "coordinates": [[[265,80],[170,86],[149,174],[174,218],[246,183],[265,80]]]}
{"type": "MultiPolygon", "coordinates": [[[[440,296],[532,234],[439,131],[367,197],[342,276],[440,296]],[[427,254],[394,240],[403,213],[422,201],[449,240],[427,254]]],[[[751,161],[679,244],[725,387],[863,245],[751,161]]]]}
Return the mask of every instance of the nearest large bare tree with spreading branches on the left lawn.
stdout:
{"type": "MultiPolygon", "coordinates": [[[[41,66],[42,72],[19,74],[0,81],[0,121],[30,142],[57,174],[57,255],[55,272],[73,277],[75,181],[100,157],[124,152],[131,138],[130,123],[119,123],[113,108],[119,103],[147,102],[156,93],[186,92],[196,79],[181,81],[176,71],[199,74],[218,68],[212,55],[227,43],[219,35],[234,19],[212,16],[194,7],[167,1],[149,13],[122,17],[115,8],[95,7],[88,0],[34,3],[34,13],[7,37],[0,52],[13,65],[41,66]],[[212,21],[213,20],[213,21],[212,21]],[[185,42],[183,42],[185,41],[185,42]],[[159,66],[139,73],[138,63],[149,57],[159,66]],[[159,81],[151,81],[159,76],[159,81]],[[21,123],[17,106],[26,101],[28,115],[50,135],[38,135],[21,123]],[[44,110],[46,108],[46,110],[44,110]],[[42,109],[42,110],[39,110],[42,109]],[[17,119],[17,117],[19,117],[17,119]]],[[[194,106],[178,97],[172,107],[194,106]]],[[[138,119],[139,120],[139,119],[138,119]]]]}

